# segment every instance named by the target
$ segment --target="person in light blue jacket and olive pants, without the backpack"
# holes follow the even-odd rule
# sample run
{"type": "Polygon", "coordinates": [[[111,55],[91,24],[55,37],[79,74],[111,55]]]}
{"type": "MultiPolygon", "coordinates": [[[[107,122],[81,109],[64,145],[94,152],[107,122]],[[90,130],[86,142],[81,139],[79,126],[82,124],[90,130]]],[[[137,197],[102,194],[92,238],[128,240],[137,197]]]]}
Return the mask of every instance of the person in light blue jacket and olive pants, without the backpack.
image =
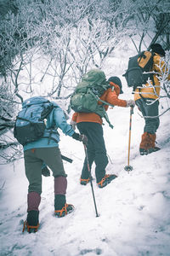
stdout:
{"type": "MultiPolygon", "coordinates": [[[[40,97],[33,97],[34,101],[40,97]]],[[[28,106],[28,101],[26,102],[28,106]]],[[[49,175],[48,167],[54,176],[54,215],[64,217],[72,212],[74,207],[66,203],[67,175],[59,151],[59,128],[68,135],[82,143],[87,143],[87,137],[73,131],[65,119],[65,113],[59,106],[52,102],[54,108],[47,117],[48,137],[39,138],[37,141],[24,145],[24,160],[26,177],[29,182],[27,195],[27,219],[25,225],[27,230],[37,231],[39,226],[39,205],[42,194],[42,174],[49,175]],[[43,170],[44,169],[44,170],[43,170]]],[[[29,107],[28,107],[29,108],[29,107]]],[[[36,114],[36,113],[33,113],[36,114]]]]}

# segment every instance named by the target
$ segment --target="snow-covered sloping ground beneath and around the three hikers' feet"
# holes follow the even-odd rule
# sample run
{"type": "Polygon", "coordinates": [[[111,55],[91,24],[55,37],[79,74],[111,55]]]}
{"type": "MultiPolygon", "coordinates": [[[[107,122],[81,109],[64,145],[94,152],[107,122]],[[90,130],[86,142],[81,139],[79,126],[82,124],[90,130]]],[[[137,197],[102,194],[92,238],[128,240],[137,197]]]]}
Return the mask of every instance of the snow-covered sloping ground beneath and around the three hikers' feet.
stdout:
{"type": "MultiPolygon", "coordinates": [[[[132,97],[123,88],[122,98],[132,97]]],[[[30,256],[158,256],[170,255],[170,131],[169,113],[161,116],[157,143],[161,150],[139,155],[144,119],[137,108],[133,113],[130,165],[125,172],[129,108],[109,110],[114,129],[104,125],[110,162],[107,173],[118,176],[104,189],[94,184],[99,212],[96,218],[91,186],[81,186],[79,177],[84,152],[82,143],[61,136],[62,154],[73,159],[65,162],[68,174],[67,202],[75,211],[65,218],[54,218],[54,178],[43,177],[40,205],[41,227],[36,234],[22,233],[26,219],[27,180],[24,162],[1,166],[0,255],[30,256]]],[[[94,176],[94,166],[92,168],[94,176]]]]}

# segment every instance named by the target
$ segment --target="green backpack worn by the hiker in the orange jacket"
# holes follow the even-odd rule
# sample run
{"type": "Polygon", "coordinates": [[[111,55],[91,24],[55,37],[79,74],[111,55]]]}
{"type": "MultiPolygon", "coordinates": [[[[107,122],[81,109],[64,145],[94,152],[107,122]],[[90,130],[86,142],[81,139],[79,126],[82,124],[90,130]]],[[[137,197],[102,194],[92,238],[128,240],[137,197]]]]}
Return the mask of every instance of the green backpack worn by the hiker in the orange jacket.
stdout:
{"type": "Polygon", "coordinates": [[[111,128],[113,128],[104,108],[105,104],[111,104],[99,98],[108,88],[111,88],[111,85],[106,81],[105,73],[99,69],[90,70],[82,76],[82,81],[77,84],[76,90],[71,96],[71,109],[78,113],[97,113],[101,118],[105,117],[111,128]],[[98,102],[103,104],[99,105],[98,102]]]}

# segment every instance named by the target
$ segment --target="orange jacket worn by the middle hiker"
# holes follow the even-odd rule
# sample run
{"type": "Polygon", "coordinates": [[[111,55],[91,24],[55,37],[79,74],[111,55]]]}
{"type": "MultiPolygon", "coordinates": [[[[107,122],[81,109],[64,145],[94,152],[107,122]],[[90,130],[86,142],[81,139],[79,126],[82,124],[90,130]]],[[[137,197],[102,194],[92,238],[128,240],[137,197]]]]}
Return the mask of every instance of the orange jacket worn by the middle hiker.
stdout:
{"type": "MultiPolygon", "coordinates": [[[[118,96],[120,94],[119,86],[112,82],[110,82],[110,84],[111,86],[114,86],[114,90],[112,90],[112,88],[105,90],[104,94],[100,96],[100,99],[114,106],[127,107],[126,101],[118,99],[118,96]]],[[[98,104],[102,104],[102,102],[98,102],[98,104]]],[[[107,110],[108,108],[109,106],[105,105],[105,110],[107,110]]],[[[76,112],[76,113],[73,113],[72,120],[76,123],[94,122],[94,123],[99,123],[100,125],[102,125],[103,123],[102,119],[97,113],[77,113],[76,112]]]]}

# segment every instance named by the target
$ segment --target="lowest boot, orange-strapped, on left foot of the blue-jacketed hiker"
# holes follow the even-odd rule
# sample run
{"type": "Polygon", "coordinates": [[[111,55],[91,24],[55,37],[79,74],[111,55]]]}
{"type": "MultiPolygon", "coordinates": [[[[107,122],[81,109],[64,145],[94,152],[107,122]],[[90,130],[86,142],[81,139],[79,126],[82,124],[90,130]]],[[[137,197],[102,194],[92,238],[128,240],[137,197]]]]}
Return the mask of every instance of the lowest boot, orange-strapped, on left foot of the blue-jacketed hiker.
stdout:
{"type": "Polygon", "coordinates": [[[24,227],[22,232],[25,231],[25,229],[29,232],[37,232],[37,229],[39,227],[39,212],[38,211],[29,211],[27,214],[26,221],[24,222],[24,227]]]}

